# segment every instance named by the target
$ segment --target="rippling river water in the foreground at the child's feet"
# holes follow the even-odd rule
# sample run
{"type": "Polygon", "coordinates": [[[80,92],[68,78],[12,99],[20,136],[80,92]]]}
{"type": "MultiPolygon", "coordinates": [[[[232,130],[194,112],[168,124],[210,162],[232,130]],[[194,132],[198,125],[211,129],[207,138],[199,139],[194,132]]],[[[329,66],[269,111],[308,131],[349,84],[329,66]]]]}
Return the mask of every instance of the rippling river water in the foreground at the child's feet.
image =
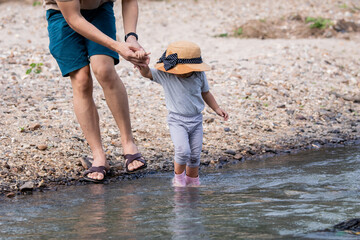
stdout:
{"type": "Polygon", "coordinates": [[[317,230],[360,218],[360,146],[2,199],[0,239],[359,239],[317,230]]]}

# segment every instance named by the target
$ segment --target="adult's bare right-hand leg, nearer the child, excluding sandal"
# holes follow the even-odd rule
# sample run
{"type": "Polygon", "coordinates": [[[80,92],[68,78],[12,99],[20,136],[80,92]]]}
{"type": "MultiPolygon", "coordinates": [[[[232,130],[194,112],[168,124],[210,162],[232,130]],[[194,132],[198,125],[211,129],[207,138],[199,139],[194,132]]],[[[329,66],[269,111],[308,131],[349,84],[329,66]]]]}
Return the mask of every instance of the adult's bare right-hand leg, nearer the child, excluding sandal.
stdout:
{"type": "MultiPolygon", "coordinates": [[[[115,71],[114,59],[106,55],[93,55],[90,62],[95,77],[103,88],[106,103],[120,129],[124,154],[137,153],[138,149],[131,132],[128,96],[124,84],[115,71]]],[[[128,168],[132,171],[142,165],[142,162],[135,160],[128,168]]]]}

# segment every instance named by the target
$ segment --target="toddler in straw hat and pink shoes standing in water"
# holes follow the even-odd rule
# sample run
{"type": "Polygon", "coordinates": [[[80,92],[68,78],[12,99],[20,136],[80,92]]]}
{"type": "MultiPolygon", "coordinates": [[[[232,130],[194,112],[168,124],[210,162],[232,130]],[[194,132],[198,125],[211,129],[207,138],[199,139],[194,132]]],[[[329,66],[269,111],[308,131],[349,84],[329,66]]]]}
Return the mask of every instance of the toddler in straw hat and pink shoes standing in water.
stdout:
{"type": "MultiPolygon", "coordinates": [[[[141,53],[140,53],[141,54],[141,53]]],[[[161,84],[165,91],[167,121],[175,146],[173,186],[198,186],[203,141],[202,110],[205,103],[224,120],[228,114],[209,91],[198,45],[187,41],[171,43],[155,68],[139,67],[143,77],[161,84]]]]}

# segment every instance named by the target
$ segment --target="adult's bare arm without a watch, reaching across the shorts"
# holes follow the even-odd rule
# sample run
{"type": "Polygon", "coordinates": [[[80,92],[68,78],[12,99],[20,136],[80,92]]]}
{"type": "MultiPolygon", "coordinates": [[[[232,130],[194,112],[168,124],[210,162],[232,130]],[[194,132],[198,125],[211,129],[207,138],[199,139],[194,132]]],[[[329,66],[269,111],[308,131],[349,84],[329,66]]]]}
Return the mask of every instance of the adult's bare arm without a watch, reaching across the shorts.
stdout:
{"type": "Polygon", "coordinates": [[[69,26],[85,38],[99,43],[119,53],[124,59],[135,65],[141,65],[143,60],[138,59],[134,53],[140,50],[131,43],[121,43],[102,33],[94,25],[88,22],[80,13],[80,1],[57,1],[57,5],[69,26]]]}

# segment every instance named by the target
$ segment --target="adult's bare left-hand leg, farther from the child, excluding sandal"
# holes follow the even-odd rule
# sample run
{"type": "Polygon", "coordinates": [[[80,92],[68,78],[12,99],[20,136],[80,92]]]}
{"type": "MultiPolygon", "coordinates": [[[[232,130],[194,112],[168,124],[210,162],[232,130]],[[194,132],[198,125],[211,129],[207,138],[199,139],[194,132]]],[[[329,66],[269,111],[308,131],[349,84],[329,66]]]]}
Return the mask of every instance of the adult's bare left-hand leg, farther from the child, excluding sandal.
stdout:
{"type": "MultiPolygon", "coordinates": [[[[101,143],[99,115],[92,97],[93,82],[90,67],[85,66],[70,73],[70,79],[73,88],[75,115],[93,153],[93,166],[109,167],[101,143]]],[[[102,173],[89,173],[88,177],[101,180],[104,175],[102,173]]]]}

